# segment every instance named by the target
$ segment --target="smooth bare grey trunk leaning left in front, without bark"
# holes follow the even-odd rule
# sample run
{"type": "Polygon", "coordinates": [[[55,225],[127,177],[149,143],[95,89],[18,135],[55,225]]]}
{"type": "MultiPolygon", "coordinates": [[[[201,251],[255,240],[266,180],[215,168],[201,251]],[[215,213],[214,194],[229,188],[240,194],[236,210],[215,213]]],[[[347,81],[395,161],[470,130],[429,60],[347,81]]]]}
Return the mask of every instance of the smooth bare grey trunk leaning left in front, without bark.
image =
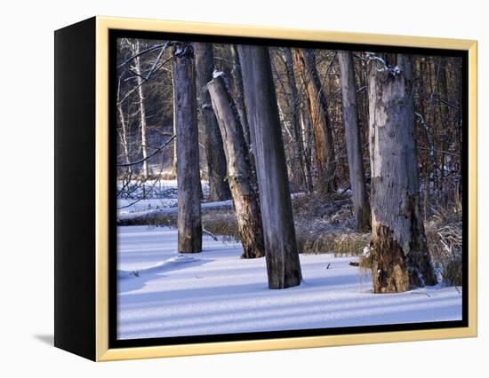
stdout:
{"type": "Polygon", "coordinates": [[[293,287],[301,284],[301,263],[269,50],[239,45],[238,51],[260,188],[269,288],[293,287]]]}

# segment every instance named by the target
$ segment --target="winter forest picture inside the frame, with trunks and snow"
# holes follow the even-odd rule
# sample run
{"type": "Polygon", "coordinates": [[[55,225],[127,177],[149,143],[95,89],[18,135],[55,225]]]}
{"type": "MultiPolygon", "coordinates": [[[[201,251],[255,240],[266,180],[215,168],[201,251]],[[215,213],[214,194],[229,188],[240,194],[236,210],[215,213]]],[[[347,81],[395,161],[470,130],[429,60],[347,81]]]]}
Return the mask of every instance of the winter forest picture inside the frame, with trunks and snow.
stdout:
{"type": "Polygon", "coordinates": [[[116,40],[117,338],[461,319],[458,57],[116,40]]]}

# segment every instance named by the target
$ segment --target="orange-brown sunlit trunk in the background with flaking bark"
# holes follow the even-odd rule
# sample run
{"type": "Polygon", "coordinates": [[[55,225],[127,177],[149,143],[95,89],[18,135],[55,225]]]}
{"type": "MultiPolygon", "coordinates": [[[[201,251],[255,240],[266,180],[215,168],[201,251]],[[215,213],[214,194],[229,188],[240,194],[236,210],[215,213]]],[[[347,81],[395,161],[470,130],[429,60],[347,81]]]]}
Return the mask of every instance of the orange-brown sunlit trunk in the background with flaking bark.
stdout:
{"type": "Polygon", "coordinates": [[[305,88],[309,114],[316,139],[318,187],[322,193],[333,193],[336,188],[336,161],[333,130],[327,114],[327,103],[321,80],[317,74],[314,51],[293,49],[296,72],[305,88]]]}

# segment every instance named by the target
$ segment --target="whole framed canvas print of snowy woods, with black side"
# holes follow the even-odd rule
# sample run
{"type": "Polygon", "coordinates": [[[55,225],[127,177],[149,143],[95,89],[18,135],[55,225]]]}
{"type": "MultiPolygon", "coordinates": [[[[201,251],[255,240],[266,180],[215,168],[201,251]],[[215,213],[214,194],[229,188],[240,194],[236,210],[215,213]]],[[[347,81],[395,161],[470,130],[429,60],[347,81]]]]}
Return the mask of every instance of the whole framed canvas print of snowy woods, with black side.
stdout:
{"type": "Polygon", "coordinates": [[[477,335],[477,43],[95,17],[55,32],[55,345],[477,335]]]}

